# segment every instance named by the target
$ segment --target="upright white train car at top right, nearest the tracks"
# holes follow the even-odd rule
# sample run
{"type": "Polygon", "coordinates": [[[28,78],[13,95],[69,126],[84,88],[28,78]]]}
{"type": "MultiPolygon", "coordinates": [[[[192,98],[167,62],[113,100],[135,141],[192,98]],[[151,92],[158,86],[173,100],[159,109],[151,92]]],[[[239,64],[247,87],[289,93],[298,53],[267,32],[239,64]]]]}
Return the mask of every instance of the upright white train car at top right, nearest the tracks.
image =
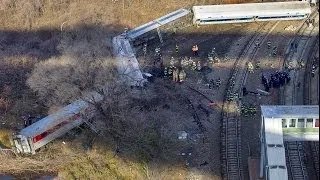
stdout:
{"type": "Polygon", "coordinates": [[[192,9],[196,25],[299,20],[311,14],[310,4],[302,1],[206,5],[192,9]]]}

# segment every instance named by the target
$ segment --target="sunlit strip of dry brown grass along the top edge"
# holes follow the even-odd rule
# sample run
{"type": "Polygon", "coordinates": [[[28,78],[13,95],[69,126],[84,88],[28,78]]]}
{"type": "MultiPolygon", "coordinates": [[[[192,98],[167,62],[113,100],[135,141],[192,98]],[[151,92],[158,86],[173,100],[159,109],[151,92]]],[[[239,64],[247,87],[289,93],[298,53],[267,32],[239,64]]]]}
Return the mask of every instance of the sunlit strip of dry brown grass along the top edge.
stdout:
{"type": "MultiPolygon", "coordinates": [[[[23,6],[26,4],[25,1],[30,0],[11,1],[15,1],[16,6],[11,8],[7,6],[7,8],[3,8],[3,11],[0,11],[0,30],[60,29],[64,22],[66,22],[64,26],[68,28],[79,23],[135,27],[180,8],[191,8],[192,5],[199,4],[223,3],[220,0],[118,0],[114,3],[111,0],[82,2],[78,0],[44,0],[40,5],[34,3],[33,6],[23,6]],[[41,9],[40,13],[37,9],[41,9]],[[33,12],[35,10],[36,13],[33,12]],[[28,20],[27,17],[32,19],[28,20]]],[[[252,1],[232,0],[227,3],[237,2],[252,1]]],[[[2,7],[4,6],[2,5],[2,7]]]]}

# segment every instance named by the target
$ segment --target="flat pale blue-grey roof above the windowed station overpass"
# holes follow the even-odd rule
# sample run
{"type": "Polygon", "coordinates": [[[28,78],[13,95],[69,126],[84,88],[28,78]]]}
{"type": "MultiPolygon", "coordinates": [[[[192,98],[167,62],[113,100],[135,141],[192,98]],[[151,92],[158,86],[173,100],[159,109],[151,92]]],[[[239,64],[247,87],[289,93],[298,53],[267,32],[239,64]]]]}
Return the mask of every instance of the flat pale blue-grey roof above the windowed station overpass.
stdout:
{"type": "Polygon", "coordinates": [[[319,106],[261,106],[265,118],[319,118],[319,106]]]}

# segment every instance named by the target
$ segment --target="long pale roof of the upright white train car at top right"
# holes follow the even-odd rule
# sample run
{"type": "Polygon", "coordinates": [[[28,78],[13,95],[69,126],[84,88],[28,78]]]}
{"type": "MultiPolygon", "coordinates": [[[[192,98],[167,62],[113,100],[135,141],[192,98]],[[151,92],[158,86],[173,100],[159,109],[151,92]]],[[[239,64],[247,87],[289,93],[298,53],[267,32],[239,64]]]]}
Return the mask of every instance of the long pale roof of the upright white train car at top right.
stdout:
{"type": "Polygon", "coordinates": [[[193,6],[193,13],[195,19],[296,15],[310,14],[311,7],[308,2],[302,1],[206,5],[193,6]]]}

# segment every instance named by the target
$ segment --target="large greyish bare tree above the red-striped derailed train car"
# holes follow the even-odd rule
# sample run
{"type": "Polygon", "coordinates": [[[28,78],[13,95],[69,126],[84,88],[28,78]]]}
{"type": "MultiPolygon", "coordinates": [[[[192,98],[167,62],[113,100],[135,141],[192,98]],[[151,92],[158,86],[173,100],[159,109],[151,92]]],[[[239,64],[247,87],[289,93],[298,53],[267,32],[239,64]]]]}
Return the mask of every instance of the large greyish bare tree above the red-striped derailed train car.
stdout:
{"type": "Polygon", "coordinates": [[[64,105],[115,80],[110,39],[102,32],[81,28],[65,33],[62,54],[35,65],[27,84],[47,105],[64,105]]]}

